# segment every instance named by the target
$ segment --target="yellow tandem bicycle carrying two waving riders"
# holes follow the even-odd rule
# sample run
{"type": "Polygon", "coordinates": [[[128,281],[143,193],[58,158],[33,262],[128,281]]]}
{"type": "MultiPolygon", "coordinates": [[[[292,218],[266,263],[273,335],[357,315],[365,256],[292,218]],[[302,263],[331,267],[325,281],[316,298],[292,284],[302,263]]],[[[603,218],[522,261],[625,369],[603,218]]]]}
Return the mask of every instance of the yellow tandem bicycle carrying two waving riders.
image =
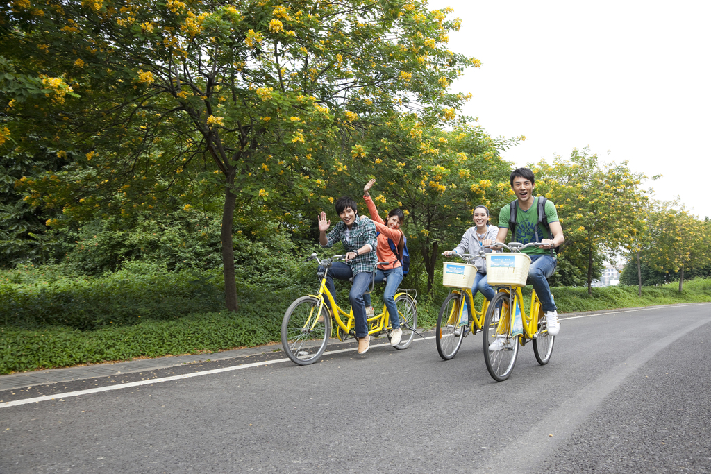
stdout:
{"type": "MultiPolygon", "coordinates": [[[[289,306],[282,321],[282,347],[289,359],[298,365],[313,364],[324,353],[328,338],[331,337],[332,319],[336,321],[336,337],[346,340],[355,337],[355,318],[353,308],[346,313],[333,299],[333,295],[326,288],[326,275],[333,262],[346,259],[345,255],[333,255],[331,258],[319,259],[316,254],[311,254],[306,261],[316,259],[322,269],[319,274],[321,286],[315,295],[301,296],[289,306]],[[343,316],[343,318],[341,318],[343,316]],[[344,321],[345,320],[345,321],[344,321]]],[[[385,264],[387,262],[378,262],[385,264]]],[[[375,286],[375,269],[370,283],[370,291],[375,286]]],[[[415,338],[417,328],[417,292],[414,289],[397,289],[395,293],[395,306],[400,318],[402,338],[395,349],[407,349],[415,338]],[[415,296],[410,295],[414,292],[415,296]]],[[[368,318],[368,334],[377,336],[383,330],[390,340],[390,315],[383,303],[383,312],[368,318]]]]}

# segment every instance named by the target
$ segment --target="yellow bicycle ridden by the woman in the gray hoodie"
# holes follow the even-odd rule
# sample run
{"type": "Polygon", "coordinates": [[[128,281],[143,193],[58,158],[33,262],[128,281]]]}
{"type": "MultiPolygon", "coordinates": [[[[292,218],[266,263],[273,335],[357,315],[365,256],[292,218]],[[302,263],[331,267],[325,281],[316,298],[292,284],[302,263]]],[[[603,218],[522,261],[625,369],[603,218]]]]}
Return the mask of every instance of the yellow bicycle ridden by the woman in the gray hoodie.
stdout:
{"type": "MultiPolygon", "coordinates": [[[[472,254],[455,254],[457,257],[464,259],[466,264],[471,265],[474,262],[476,255],[472,254]]],[[[453,271],[458,270],[461,264],[450,264],[454,266],[453,271]]],[[[447,275],[447,263],[444,264],[445,277],[447,275]]],[[[476,271],[471,269],[471,271],[476,271]]],[[[471,283],[469,281],[457,281],[453,284],[447,284],[447,286],[453,286],[451,293],[444,298],[442,303],[442,308],[439,308],[439,316],[437,316],[437,332],[434,338],[437,345],[437,352],[439,352],[439,357],[444,360],[450,360],[454,358],[459,348],[461,348],[461,341],[466,338],[467,335],[476,334],[478,330],[481,330],[484,325],[484,315],[486,314],[486,309],[488,308],[488,300],[484,298],[484,302],[481,305],[481,310],[476,311],[474,306],[474,296],[471,294],[471,283]]]]}

